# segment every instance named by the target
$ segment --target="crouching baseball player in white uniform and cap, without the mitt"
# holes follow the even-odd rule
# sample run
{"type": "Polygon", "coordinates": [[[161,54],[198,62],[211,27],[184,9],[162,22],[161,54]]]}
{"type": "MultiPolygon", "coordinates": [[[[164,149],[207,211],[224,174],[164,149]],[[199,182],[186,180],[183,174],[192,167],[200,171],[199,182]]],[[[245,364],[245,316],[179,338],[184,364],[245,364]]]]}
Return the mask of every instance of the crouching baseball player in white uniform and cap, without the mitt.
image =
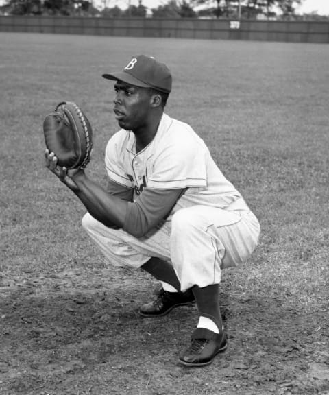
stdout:
{"type": "Polygon", "coordinates": [[[47,167],[82,201],[82,226],[113,265],[145,270],[162,283],[143,317],[158,318],[196,302],[185,366],[205,366],[227,348],[219,308],[221,270],[246,261],[260,226],[243,197],[223,176],[204,141],[164,112],[171,72],[154,58],[134,56],[114,81],[114,115],[121,130],[106,147],[109,187],[82,169],[47,167]]]}

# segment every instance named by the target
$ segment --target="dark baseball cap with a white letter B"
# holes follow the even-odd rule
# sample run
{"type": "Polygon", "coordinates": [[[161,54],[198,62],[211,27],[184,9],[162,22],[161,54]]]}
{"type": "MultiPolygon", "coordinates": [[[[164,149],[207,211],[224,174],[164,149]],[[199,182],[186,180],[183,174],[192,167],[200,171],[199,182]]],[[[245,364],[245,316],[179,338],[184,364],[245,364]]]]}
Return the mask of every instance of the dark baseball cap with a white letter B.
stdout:
{"type": "Polygon", "coordinates": [[[164,63],[160,63],[151,56],[133,56],[123,71],[103,74],[107,80],[123,81],[141,88],[155,88],[158,91],[170,93],[171,72],[164,63]]]}

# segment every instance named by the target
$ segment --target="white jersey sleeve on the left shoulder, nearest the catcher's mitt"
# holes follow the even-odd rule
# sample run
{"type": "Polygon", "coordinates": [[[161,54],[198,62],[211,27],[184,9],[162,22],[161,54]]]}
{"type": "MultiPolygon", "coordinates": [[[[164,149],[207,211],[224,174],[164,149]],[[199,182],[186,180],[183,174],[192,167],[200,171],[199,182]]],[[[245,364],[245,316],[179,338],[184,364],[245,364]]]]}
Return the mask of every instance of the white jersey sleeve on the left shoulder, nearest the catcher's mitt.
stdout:
{"type": "Polygon", "coordinates": [[[125,171],[125,136],[123,130],[114,134],[106,145],[105,168],[110,180],[128,188],[133,188],[132,181],[125,171]]]}

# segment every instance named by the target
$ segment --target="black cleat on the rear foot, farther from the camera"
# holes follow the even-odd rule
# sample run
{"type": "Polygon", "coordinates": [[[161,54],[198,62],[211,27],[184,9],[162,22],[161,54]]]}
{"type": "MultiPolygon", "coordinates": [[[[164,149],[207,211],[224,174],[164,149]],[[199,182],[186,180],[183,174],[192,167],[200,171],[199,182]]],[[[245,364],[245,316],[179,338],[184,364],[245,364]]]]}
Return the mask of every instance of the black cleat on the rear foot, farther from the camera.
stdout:
{"type": "Polygon", "coordinates": [[[139,314],[143,317],[162,317],[174,307],[188,306],[195,302],[191,289],[185,292],[168,292],[162,288],[153,302],[143,304],[139,309],[139,314]]]}

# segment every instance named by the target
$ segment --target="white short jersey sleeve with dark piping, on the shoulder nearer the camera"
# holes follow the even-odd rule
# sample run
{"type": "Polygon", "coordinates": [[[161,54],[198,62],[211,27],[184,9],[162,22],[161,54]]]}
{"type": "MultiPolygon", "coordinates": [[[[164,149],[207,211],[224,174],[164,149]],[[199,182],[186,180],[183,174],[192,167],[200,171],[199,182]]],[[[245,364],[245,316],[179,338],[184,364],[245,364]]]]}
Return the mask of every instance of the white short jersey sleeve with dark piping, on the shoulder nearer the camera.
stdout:
{"type": "Polygon", "coordinates": [[[206,188],[204,146],[194,139],[167,145],[154,161],[147,186],[154,189],[206,188]]]}

